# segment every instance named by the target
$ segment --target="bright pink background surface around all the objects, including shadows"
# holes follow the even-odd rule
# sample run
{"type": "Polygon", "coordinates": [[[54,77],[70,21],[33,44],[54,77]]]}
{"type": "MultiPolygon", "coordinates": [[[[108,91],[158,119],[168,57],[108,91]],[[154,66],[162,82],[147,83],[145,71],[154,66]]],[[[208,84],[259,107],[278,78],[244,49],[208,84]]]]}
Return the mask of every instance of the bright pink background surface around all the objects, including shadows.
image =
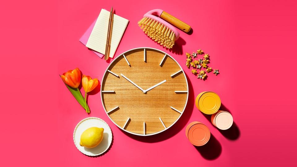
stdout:
{"type": "MultiPolygon", "coordinates": [[[[0,6],[1,166],[296,166],[296,2],[294,1],[5,1],[0,6]],[[75,101],[59,74],[79,67],[100,80],[109,62],[79,42],[101,8],[130,20],[118,54],[153,47],[173,56],[189,82],[185,113],[169,130],[137,137],[115,126],[100,93],[88,98],[91,114],[75,101]],[[160,8],[193,28],[174,50],[148,39],[137,21],[160,8]],[[196,79],[185,53],[203,49],[218,76],[196,79]],[[218,131],[194,104],[202,91],[219,94],[235,124],[218,131]],[[88,157],[72,134],[86,117],[111,127],[111,148],[88,157]],[[211,141],[195,148],[185,136],[192,121],[206,124],[211,141]]],[[[98,90],[97,90],[98,92],[98,90]]],[[[84,91],[82,90],[82,93],[84,91]]]]}

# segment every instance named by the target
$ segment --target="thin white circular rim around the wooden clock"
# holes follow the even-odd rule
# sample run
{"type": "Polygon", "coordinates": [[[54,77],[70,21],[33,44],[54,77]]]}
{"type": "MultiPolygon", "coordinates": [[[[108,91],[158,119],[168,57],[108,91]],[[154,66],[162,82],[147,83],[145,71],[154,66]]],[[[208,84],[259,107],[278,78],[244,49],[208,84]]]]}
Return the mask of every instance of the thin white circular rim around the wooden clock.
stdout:
{"type": "MultiPolygon", "coordinates": [[[[160,52],[166,54],[167,56],[169,56],[170,58],[172,58],[172,59],[179,65],[179,68],[183,71],[183,68],[180,66],[180,64],[179,64],[179,63],[178,63],[172,56],[170,56],[169,54],[167,54],[166,52],[164,52],[164,51],[162,51],[162,50],[155,49],[155,48],[149,48],[149,47],[140,47],[140,48],[133,48],[133,49],[127,50],[127,51],[123,52],[122,54],[119,54],[118,57],[116,57],[112,62],[110,62],[110,64],[108,65],[108,67],[106,68],[106,70],[105,70],[105,72],[104,72],[104,75],[103,75],[102,80],[101,80],[101,87],[100,87],[101,103],[102,103],[103,109],[104,109],[106,115],[108,116],[108,118],[109,118],[109,119],[110,119],[116,126],[118,126],[118,128],[120,128],[121,130],[123,130],[123,131],[125,131],[125,132],[127,132],[127,133],[130,133],[130,134],[133,134],[133,135],[138,135],[138,136],[151,136],[151,135],[157,135],[157,134],[159,134],[159,133],[161,133],[161,132],[163,132],[163,131],[166,131],[166,130],[169,129],[171,126],[173,126],[173,125],[179,120],[179,118],[183,115],[183,112],[184,112],[184,110],[185,110],[186,107],[187,107],[188,97],[189,97],[189,85],[188,85],[188,80],[187,80],[187,77],[186,77],[186,74],[185,74],[184,71],[183,71],[183,75],[184,75],[184,77],[185,77],[185,79],[186,79],[186,83],[187,83],[187,100],[186,100],[186,104],[185,104],[185,106],[184,106],[184,108],[183,108],[182,113],[179,115],[179,118],[177,118],[177,119],[176,119],[170,126],[166,127],[166,129],[163,129],[162,131],[158,131],[158,132],[155,132],[155,133],[150,133],[150,134],[145,134],[145,135],[144,135],[144,134],[133,133],[133,132],[131,132],[131,131],[127,131],[126,129],[123,129],[121,126],[119,126],[117,123],[115,123],[115,122],[110,118],[109,114],[107,113],[107,111],[106,111],[106,109],[105,109],[105,107],[104,107],[104,103],[103,103],[103,99],[102,99],[102,85],[103,85],[102,82],[103,82],[103,79],[104,79],[105,74],[106,74],[107,70],[109,69],[109,67],[110,67],[110,66],[112,65],[112,63],[113,63],[116,59],[118,59],[121,55],[123,55],[123,54],[125,54],[125,53],[127,53],[127,52],[130,52],[130,51],[132,51],[132,50],[136,50],[136,49],[153,49],[153,50],[160,51],[160,52]]],[[[124,127],[124,128],[125,128],[125,127],[124,127]]]]}

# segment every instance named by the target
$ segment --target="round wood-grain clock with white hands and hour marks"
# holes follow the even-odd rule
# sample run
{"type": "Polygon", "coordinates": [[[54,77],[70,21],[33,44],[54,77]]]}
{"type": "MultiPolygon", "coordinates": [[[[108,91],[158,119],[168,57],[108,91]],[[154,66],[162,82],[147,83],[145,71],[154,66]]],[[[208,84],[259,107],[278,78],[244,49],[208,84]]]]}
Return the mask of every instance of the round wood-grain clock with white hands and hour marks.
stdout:
{"type": "Polygon", "coordinates": [[[101,83],[105,112],[122,130],[154,135],[183,114],[188,84],[180,65],[153,48],[136,48],[110,63],[101,83]]]}

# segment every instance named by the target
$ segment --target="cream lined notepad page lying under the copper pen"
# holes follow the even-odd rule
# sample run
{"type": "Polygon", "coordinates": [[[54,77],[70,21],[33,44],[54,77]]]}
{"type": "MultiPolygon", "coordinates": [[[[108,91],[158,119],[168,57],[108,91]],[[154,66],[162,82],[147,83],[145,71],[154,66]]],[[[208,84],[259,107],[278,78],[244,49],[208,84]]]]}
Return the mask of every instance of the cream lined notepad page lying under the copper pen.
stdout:
{"type": "MultiPolygon", "coordinates": [[[[93,49],[101,54],[105,54],[109,15],[109,11],[101,9],[101,12],[86,45],[88,48],[93,49]]],[[[118,48],[118,44],[121,41],[128,22],[129,20],[114,14],[114,22],[110,43],[110,58],[114,57],[114,53],[118,48]]]]}

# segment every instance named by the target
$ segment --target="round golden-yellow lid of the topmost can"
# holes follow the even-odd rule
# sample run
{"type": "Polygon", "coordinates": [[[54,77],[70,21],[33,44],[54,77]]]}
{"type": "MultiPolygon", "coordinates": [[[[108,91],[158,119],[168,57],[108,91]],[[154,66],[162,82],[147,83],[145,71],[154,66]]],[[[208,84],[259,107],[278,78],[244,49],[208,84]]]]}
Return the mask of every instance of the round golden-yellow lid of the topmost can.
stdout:
{"type": "Polygon", "coordinates": [[[205,92],[200,96],[198,106],[202,113],[213,114],[221,107],[221,99],[214,92],[205,92]]]}

